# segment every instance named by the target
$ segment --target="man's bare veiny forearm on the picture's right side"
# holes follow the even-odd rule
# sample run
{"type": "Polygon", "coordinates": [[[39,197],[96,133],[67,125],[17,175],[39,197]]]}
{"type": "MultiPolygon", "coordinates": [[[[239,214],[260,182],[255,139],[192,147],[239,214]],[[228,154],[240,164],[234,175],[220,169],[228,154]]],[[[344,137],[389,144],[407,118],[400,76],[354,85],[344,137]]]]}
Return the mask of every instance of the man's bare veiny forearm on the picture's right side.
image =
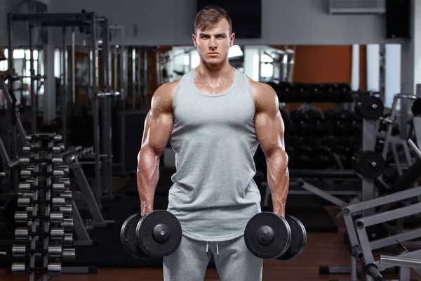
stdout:
{"type": "Polygon", "coordinates": [[[275,150],[266,158],[267,183],[272,194],[275,214],[285,216],[289,188],[288,155],[285,150],[275,150]]]}

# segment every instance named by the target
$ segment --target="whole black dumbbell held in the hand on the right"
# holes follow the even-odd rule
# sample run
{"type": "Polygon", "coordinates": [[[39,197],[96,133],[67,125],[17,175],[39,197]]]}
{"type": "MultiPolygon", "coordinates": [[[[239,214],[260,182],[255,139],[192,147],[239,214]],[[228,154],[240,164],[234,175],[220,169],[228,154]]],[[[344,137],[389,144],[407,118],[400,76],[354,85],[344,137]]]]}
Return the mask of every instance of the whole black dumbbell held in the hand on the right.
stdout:
{"type": "Polygon", "coordinates": [[[251,254],[260,259],[286,261],[304,251],[307,231],[298,218],[263,211],[248,221],[244,241],[251,254]]]}

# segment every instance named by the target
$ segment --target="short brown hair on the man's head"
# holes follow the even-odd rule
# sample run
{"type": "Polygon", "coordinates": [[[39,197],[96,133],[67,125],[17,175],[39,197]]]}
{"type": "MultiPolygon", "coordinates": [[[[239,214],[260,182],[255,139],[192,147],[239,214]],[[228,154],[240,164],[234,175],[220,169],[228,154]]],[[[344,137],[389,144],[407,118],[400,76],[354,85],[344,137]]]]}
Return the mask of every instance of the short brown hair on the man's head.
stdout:
{"type": "Polygon", "coordinates": [[[210,27],[220,22],[223,18],[225,18],[225,20],[229,23],[229,34],[231,34],[231,17],[229,17],[225,9],[212,5],[202,8],[199,13],[197,13],[196,18],[194,18],[194,33],[196,33],[199,29],[208,30],[210,27]]]}

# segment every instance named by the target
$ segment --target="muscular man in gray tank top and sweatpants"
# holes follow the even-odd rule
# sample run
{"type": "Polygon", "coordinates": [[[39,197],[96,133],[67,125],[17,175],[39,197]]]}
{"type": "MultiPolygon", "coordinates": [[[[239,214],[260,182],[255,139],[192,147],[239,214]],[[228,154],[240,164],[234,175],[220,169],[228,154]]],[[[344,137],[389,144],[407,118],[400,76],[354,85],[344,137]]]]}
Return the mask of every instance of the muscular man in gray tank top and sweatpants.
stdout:
{"type": "Polygon", "coordinates": [[[284,216],[289,177],[276,93],[229,65],[234,43],[229,15],[199,11],[193,44],[200,65],[163,84],[152,98],[138,155],[141,213],[153,209],[159,157],[169,142],[176,172],[168,211],[181,223],[180,247],[163,259],[166,281],[203,280],[211,255],[222,281],[258,281],[262,259],[248,251],[244,229],[261,211],[253,181],[260,144],[274,213],[284,216]]]}

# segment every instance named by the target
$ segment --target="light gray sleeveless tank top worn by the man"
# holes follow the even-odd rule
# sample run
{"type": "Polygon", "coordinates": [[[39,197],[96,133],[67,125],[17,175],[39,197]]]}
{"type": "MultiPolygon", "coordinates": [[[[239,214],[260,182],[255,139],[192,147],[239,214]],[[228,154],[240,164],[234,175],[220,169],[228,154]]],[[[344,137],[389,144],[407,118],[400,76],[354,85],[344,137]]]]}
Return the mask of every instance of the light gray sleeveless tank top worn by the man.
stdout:
{"type": "Polygon", "coordinates": [[[260,210],[253,181],[258,148],[255,104],[246,74],[236,70],[225,93],[208,94],[185,74],[173,98],[170,144],[176,172],[168,211],[180,221],[183,235],[201,241],[232,240],[244,233],[260,210]]]}

